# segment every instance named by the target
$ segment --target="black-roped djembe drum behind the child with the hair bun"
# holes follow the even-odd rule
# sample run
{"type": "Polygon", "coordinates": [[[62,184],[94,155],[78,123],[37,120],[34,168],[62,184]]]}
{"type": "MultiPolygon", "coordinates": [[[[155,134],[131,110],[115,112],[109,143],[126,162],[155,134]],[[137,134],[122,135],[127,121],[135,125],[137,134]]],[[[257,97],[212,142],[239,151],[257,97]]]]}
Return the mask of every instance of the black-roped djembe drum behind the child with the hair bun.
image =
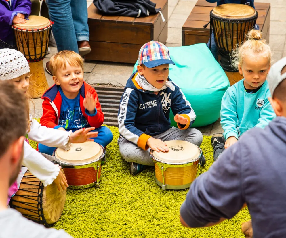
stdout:
{"type": "Polygon", "coordinates": [[[231,85],[241,80],[243,76],[233,71],[230,66],[230,54],[244,41],[247,32],[255,26],[257,17],[258,13],[253,7],[243,4],[222,4],[210,12],[211,31],[213,30],[218,47],[220,65],[231,85]]]}

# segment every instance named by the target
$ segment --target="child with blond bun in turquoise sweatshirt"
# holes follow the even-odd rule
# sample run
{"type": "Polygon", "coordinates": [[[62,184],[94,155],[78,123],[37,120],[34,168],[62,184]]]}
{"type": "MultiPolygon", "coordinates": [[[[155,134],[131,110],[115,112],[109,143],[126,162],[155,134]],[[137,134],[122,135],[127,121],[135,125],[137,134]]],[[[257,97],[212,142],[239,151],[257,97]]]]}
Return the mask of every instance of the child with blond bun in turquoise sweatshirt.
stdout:
{"type": "Polygon", "coordinates": [[[266,76],[270,70],[271,50],[261,39],[259,30],[250,30],[247,41],[232,54],[232,66],[236,67],[243,79],[229,87],[222,98],[220,111],[223,137],[213,137],[214,160],[237,142],[245,131],[264,128],[275,118],[268,101],[270,97],[266,76]]]}

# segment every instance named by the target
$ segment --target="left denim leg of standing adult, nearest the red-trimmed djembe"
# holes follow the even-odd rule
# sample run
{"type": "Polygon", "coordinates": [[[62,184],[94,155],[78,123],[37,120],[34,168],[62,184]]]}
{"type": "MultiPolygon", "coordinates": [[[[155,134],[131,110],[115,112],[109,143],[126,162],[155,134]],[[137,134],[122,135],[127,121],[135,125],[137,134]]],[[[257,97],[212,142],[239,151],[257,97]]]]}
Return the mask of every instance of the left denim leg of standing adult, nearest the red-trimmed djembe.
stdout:
{"type": "Polygon", "coordinates": [[[79,53],[70,0],[46,0],[46,4],[50,20],[54,22],[52,30],[58,51],[72,50],[79,53]]]}

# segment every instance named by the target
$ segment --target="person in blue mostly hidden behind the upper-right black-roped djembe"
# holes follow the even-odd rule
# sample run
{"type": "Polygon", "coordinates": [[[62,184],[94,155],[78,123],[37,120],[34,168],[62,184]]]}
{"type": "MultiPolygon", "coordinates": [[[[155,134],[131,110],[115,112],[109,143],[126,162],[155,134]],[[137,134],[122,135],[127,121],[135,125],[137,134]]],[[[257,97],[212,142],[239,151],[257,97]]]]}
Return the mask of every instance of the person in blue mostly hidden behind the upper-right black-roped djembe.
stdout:
{"type": "MultiPolygon", "coordinates": [[[[209,3],[217,3],[217,6],[227,3],[236,3],[236,4],[245,4],[249,5],[251,7],[254,7],[254,0],[206,0],[209,3]]],[[[256,30],[259,29],[259,26],[256,24],[254,27],[256,30]]],[[[209,42],[207,43],[207,46],[209,47],[209,43],[211,41],[211,53],[213,54],[213,57],[215,57],[216,60],[218,60],[218,47],[216,46],[216,42],[214,40],[213,32],[211,33],[211,39],[209,39],[209,42]]]]}

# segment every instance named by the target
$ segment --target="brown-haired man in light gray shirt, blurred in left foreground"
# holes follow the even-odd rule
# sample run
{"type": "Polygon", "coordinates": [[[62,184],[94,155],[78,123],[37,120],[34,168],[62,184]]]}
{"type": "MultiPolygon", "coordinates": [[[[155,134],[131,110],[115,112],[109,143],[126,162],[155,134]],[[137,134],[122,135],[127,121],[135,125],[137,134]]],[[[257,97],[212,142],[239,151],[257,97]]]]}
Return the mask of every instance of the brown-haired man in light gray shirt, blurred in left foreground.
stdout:
{"type": "Polygon", "coordinates": [[[11,82],[0,81],[0,238],[71,238],[63,230],[47,229],[7,208],[8,189],[16,180],[23,159],[25,101],[26,97],[11,82]]]}

